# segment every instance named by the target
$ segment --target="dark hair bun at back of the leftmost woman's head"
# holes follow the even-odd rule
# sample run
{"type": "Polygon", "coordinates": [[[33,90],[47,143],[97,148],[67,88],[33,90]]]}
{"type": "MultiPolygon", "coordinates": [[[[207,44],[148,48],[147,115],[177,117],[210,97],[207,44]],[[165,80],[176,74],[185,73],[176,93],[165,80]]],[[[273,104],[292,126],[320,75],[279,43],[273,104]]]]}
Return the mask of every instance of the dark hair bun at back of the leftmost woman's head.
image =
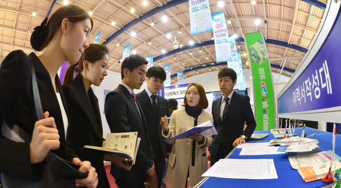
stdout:
{"type": "Polygon", "coordinates": [[[35,27],[31,35],[31,46],[33,49],[37,51],[41,51],[44,49],[44,44],[48,35],[48,27],[46,25],[47,18],[37,27],[35,27]]]}

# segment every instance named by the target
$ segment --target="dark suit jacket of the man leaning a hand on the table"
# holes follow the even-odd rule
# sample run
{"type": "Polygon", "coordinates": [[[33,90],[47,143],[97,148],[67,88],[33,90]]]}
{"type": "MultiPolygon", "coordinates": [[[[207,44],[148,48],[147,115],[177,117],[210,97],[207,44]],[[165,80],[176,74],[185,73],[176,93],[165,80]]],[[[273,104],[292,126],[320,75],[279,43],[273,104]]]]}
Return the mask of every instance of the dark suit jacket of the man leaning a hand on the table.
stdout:
{"type": "Polygon", "coordinates": [[[256,121],[250,105],[250,97],[244,94],[233,92],[231,101],[227,107],[227,117],[220,119],[220,104],[222,97],[216,99],[212,103],[213,125],[218,132],[214,136],[213,143],[210,147],[210,153],[216,154],[221,145],[224,147],[232,147],[232,143],[240,135],[245,135],[247,139],[256,128],[256,121]],[[244,129],[244,122],[246,122],[246,129],[244,129]]]}

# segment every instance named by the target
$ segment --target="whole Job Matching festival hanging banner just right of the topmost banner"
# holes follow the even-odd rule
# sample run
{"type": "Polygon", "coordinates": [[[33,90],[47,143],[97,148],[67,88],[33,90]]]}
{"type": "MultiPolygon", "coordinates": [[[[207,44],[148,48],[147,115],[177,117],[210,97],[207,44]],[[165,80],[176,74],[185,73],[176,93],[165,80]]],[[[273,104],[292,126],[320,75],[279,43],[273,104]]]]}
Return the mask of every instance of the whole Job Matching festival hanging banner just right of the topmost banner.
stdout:
{"type": "Polygon", "coordinates": [[[231,50],[223,12],[212,14],[212,27],[217,62],[227,61],[231,58],[231,50]]]}

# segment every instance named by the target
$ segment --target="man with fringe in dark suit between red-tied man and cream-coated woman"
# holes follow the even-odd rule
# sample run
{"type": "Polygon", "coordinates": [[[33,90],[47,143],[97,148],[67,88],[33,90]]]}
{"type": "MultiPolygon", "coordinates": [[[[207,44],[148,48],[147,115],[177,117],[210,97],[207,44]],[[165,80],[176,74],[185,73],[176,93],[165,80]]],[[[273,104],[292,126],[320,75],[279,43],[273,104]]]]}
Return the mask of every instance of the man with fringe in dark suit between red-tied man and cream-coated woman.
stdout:
{"type": "Polygon", "coordinates": [[[161,135],[162,128],[160,126],[161,117],[170,116],[167,99],[158,96],[157,92],[163,86],[166,80],[166,72],[161,67],[151,67],[147,71],[147,88],[141,93],[136,94],[138,102],[141,104],[142,111],[148,124],[148,132],[152,141],[152,149],[156,155],[154,160],[155,171],[157,175],[158,188],[162,184],[162,176],[165,170],[165,157],[167,148],[171,145],[167,144],[161,135]]]}

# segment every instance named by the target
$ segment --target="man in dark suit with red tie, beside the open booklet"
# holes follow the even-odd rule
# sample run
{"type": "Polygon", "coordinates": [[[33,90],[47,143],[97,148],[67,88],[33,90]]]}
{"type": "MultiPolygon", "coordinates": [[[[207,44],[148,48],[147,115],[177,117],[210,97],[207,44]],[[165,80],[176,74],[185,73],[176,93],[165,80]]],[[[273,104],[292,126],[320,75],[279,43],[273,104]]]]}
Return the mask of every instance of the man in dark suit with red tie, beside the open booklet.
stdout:
{"type": "MultiPolygon", "coordinates": [[[[147,123],[142,107],[136,100],[134,89],[140,89],[146,80],[147,61],[139,55],[125,58],[121,65],[122,82],[105,97],[104,111],[111,132],[138,132],[141,138],[136,161],[131,171],[111,167],[111,174],[119,188],[140,188],[145,182],[145,175],[150,183],[157,184],[152,150],[147,123]]],[[[156,186],[155,186],[156,187],[156,186]]]]}

